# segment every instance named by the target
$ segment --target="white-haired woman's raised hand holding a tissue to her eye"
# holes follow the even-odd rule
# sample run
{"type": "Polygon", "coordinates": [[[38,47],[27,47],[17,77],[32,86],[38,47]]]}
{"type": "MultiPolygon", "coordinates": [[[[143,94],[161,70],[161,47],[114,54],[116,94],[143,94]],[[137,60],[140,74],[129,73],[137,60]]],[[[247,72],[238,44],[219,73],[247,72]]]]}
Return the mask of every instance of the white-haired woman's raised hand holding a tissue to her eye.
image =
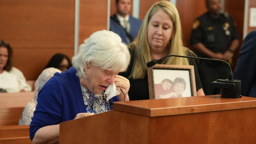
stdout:
{"type": "Polygon", "coordinates": [[[125,77],[122,77],[121,75],[115,75],[114,82],[115,82],[115,86],[117,87],[117,90],[119,90],[121,93],[120,95],[118,95],[119,101],[124,101],[124,100],[129,101],[129,96],[128,96],[128,91],[130,89],[129,80],[125,77]],[[125,95],[123,95],[120,88],[122,88],[123,93],[125,95]]]}

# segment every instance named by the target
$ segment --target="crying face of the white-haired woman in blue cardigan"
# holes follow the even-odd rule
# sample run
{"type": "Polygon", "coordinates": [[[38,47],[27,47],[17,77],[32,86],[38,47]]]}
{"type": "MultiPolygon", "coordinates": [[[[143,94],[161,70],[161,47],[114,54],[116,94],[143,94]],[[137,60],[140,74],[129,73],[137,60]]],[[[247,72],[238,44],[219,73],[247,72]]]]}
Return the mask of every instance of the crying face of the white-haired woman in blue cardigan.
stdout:
{"type": "Polygon", "coordinates": [[[109,84],[114,83],[114,77],[118,73],[118,71],[103,70],[89,63],[89,67],[85,68],[85,74],[87,76],[85,85],[91,92],[93,92],[94,87],[95,94],[102,93],[107,89],[109,84]]]}

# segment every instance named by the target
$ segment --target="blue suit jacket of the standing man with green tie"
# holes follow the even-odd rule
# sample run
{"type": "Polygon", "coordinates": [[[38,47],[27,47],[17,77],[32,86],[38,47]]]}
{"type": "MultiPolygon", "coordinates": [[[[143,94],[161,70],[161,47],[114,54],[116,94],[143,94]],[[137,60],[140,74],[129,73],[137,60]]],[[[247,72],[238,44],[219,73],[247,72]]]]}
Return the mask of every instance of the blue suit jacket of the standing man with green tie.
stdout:
{"type": "MultiPolygon", "coordinates": [[[[114,18],[114,20],[110,19],[110,31],[117,33],[122,38],[122,41],[127,43],[127,45],[129,45],[130,43],[128,43],[128,41],[126,39],[127,38],[126,32],[122,28],[122,26],[119,24],[119,19],[117,18],[117,16],[115,14],[112,17],[114,18]]],[[[139,28],[141,27],[142,21],[140,19],[134,18],[130,15],[129,22],[130,22],[129,35],[131,36],[131,38],[133,40],[139,32],[139,28]]]]}

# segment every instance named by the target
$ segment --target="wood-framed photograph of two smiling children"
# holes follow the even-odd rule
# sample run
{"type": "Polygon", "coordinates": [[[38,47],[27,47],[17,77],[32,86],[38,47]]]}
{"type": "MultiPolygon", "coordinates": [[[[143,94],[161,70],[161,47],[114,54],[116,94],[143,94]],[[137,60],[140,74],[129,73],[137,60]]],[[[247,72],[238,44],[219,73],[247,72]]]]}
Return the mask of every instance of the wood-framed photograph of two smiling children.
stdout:
{"type": "Polygon", "coordinates": [[[147,75],[150,99],[196,96],[194,66],[156,64],[147,75]]]}

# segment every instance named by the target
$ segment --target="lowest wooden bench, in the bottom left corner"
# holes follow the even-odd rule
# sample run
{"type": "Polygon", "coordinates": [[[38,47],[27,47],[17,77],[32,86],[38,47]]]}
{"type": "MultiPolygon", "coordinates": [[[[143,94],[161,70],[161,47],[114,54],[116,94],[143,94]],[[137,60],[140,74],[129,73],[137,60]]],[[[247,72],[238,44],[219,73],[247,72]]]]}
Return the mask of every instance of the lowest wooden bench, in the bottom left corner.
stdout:
{"type": "Polygon", "coordinates": [[[1,144],[31,144],[29,138],[29,125],[23,126],[1,126],[0,127],[1,144]]]}

